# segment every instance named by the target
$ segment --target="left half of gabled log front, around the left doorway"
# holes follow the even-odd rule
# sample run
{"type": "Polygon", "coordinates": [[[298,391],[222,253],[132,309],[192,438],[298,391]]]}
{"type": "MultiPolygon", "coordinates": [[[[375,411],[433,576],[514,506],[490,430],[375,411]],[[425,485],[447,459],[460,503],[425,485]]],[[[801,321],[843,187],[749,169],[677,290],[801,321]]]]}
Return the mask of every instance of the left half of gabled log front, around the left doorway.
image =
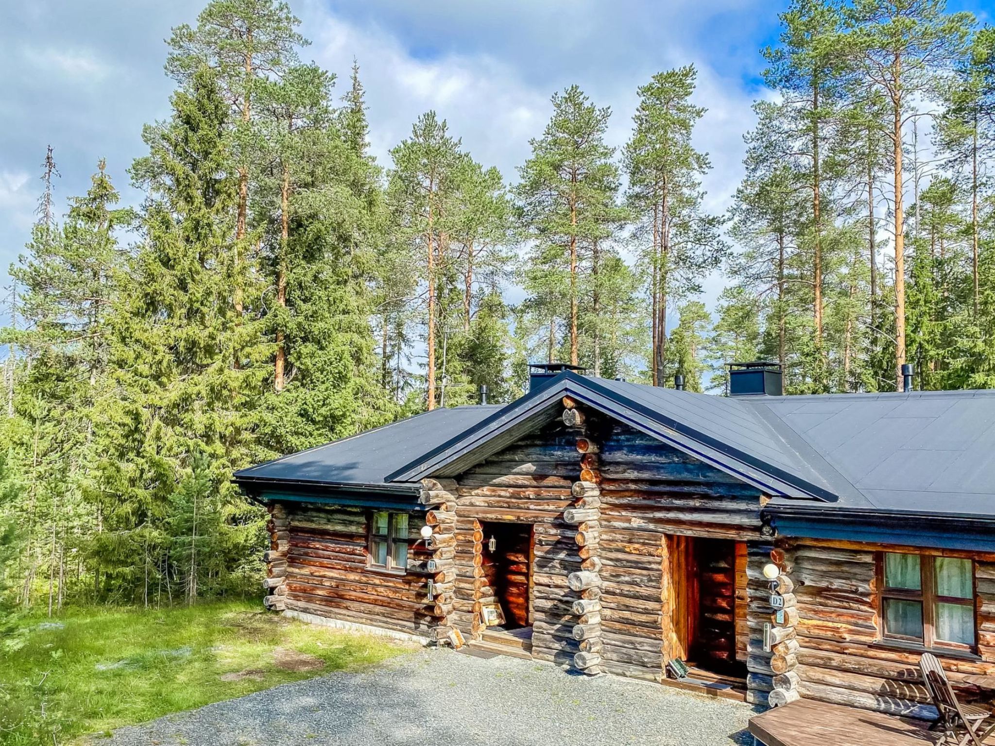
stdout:
{"type": "Polygon", "coordinates": [[[451,616],[479,637],[483,603],[499,589],[489,577],[487,522],[532,524],[528,611],[532,655],[589,673],[598,671],[600,580],[597,486],[581,481],[578,439],[585,415],[572,402],[564,417],[457,478],[456,600],[451,616]],[[578,603],[580,602],[580,603],[578,603]]]}

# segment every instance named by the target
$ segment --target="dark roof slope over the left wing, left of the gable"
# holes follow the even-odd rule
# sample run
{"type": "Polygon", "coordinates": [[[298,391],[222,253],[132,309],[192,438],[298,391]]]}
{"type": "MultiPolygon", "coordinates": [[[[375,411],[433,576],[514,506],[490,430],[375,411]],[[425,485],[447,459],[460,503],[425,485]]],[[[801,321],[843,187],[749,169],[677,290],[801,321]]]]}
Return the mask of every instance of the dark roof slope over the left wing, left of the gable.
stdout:
{"type": "Polygon", "coordinates": [[[385,477],[499,409],[499,405],[481,405],[425,412],[351,438],[244,468],[236,471],[234,478],[247,488],[282,484],[347,486],[394,492],[419,490],[419,484],[403,481],[388,483],[385,477]]]}

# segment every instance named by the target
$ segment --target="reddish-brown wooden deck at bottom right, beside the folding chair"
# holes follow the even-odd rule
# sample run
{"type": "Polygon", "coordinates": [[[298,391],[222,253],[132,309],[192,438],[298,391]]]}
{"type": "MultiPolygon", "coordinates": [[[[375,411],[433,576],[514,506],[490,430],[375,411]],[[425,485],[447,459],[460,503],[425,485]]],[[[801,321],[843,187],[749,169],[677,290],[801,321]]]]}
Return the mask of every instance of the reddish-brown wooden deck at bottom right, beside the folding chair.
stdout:
{"type": "Polygon", "coordinates": [[[776,707],[749,721],[749,732],[765,746],[927,746],[939,740],[928,727],[922,720],[812,699],[776,707]]]}

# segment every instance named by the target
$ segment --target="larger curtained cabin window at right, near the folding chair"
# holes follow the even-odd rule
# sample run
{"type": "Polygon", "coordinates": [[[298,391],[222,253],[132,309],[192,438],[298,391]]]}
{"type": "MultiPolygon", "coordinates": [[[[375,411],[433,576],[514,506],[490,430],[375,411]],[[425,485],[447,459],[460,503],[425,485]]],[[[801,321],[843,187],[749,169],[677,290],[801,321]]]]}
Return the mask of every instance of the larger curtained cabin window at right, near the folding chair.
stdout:
{"type": "Polygon", "coordinates": [[[886,640],[926,648],[974,647],[971,560],[883,552],[879,564],[886,640]]]}

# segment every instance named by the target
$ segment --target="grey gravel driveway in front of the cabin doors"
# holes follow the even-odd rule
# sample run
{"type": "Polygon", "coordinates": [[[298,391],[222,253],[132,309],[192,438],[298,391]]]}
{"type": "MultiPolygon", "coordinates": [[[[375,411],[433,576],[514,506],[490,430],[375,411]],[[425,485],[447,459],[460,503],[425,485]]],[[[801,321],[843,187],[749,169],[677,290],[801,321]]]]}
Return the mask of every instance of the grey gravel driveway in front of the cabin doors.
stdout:
{"type": "Polygon", "coordinates": [[[121,728],[101,746],[752,744],[749,705],[547,663],[421,650],[121,728]]]}

